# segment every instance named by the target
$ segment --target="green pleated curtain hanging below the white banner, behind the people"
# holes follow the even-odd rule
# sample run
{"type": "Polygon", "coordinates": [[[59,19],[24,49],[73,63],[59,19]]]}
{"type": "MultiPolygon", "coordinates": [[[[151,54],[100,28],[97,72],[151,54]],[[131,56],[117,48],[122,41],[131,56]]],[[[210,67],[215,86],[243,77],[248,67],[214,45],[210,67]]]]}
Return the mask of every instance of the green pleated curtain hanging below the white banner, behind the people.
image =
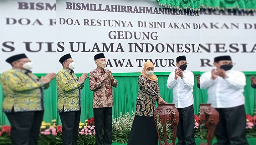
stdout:
{"type": "MultiPolygon", "coordinates": [[[[114,73],[113,73],[114,74],[114,73]]],[[[129,73],[131,74],[131,73],[129,73]]],[[[172,90],[169,90],[166,87],[166,82],[168,78],[169,72],[165,73],[157,73],[158,81],[159,81],[159,89],[161,96],[163,99],[172,103],[172,90]]],[[[196,77],[199,73],[195,73],[195,84],[196,77]]],[[[80,74],[78,74],[80,75],[80,74]]],[[[122,76],[123,74],[114,74],[115,78],[118,81],[118,87],[113,89],[113,117],[116,118],[120,116],[120,113],[132,113],[135,111],[135,103],[138,93],[138,77],[139,73],[133,73],[131,76],[122,76]],[[135,76],[134,76],[135,75],[135,76]]],[[[39,75],[40,76],[40,75],[39,75]]],[[[245,109],[247,114],[253,114],[253,109],[256,106],[256,89],[252,89],[249,81],[249,77],[251,75],[246,75],[246,83],[245,86],[245,109]]],[[[86,120],[89,117],[93,117],[93,92],[89,89],[89,79],[85,81],[85,87],[81,91],[81,121],[86,120]]],[[[56,88],[56,80],[53,80],[50,83],[50,87],[45,90],[44,94],[44,104],[45,104],[45,113],[44,113],[44,121],[50,122],[52,119],[57,120],[57,124],[61,124],[59,114],[57,113],[57,88],[56,88]]],[[[194,85],[193,88],[193,96],[194,96],[194,112],[195,114],[199,113],[199,103],[207,102],[207,92],[206,90],[200,90],[194,85]],[[200,94],[200,96],[199,96],[200,94]]],[[[0,86],[0,102],[3,101],[3,92],[0,86]]],[[[1,111],[1,103],[0,103],[0,111],[1,111]]],[[[0,113],[0,123],[1,125],[7,124],[10,125],[7,117],[3,112],[0,113]]]]}

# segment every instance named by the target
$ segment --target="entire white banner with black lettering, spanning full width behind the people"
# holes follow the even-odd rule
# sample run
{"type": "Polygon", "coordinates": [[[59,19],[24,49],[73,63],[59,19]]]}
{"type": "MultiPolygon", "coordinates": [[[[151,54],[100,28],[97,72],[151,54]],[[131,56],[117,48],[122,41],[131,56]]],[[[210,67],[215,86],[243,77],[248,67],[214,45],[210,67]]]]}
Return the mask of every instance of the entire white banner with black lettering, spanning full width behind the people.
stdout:
{"type": "Polygon", "coordinates": [[[75,73],[95,69],[97,53],[117,73],[140,72],[148,60],[156,72],[174,71],[180,55],[189,71],[209,71],[219,55],[231,55],[236,70],[255,71],[256,13],[225,12],[167,9],[154,0],[1,0],[0,73],[19,53],[34,73],[58,72],[67,53],[75,73]]]}

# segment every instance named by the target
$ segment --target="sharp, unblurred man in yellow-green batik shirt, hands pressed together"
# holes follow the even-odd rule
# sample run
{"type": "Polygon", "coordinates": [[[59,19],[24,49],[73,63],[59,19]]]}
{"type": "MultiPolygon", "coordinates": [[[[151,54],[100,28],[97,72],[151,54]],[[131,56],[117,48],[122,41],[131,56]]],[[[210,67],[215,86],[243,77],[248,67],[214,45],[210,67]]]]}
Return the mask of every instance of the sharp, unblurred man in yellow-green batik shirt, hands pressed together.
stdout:
{"type": "Polygon", "coordinates": [[[81,89],[87,73],[82,74],[79,79],[73,69],[75,63],[70,54],[60,58],[63,66],[57,73],[56,82],[58,89],[57,111],[60,114],[63,145],[76,145],[78,138],[78,127],[81,114],[81,89]]]}

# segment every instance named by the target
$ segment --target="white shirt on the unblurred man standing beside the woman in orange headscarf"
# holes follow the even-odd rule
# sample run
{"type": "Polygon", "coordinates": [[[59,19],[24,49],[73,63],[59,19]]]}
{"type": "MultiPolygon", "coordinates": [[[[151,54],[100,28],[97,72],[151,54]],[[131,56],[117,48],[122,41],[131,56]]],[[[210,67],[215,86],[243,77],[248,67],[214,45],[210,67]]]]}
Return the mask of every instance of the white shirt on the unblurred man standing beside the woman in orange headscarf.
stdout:
{"type": "Polygon", "coordinates": [[[183,71],[184,78],[178,77],[175,80],[175,72],[170,73],[167,80],[167,88],[173,89],[173,103],[176,108],[185,108],[194,104],[193,86],[194,74],[190,71],[183,71]]]}

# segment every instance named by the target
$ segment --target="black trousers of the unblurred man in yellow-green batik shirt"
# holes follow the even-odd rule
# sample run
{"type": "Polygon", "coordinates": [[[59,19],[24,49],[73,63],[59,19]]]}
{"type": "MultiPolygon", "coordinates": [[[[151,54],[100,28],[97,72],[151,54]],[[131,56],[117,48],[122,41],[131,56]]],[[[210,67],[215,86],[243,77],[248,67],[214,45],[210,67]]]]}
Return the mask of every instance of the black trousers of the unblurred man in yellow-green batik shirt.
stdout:
{"type": "Polygon", "coordinates": [[[59,112],[62,123],[62,144],[77,145],[81,111],[59,112]]]}

